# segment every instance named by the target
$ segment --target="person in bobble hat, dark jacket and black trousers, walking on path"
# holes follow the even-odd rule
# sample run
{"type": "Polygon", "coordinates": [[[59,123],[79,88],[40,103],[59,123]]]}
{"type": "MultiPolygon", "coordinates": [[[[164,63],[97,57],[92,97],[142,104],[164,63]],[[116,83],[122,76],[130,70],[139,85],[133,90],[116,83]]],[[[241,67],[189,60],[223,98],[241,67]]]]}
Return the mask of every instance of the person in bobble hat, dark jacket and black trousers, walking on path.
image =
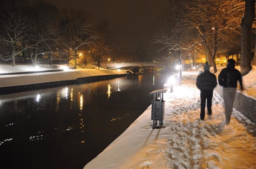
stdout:
{"type": "Polygon", "coordinates": [[[208,117],[212,115],[212,94],[213,89],[217,86],[217,78],[215,74],[212,74],[210,71],[210,66],[208,62],[205,62],[204,73],[198,75],[196,78],[196,87],[200,89],[201,97],[201,113],[200,119],[204,120],[205,116],[205,102],[207,99],[207,111],[208,117]]]}

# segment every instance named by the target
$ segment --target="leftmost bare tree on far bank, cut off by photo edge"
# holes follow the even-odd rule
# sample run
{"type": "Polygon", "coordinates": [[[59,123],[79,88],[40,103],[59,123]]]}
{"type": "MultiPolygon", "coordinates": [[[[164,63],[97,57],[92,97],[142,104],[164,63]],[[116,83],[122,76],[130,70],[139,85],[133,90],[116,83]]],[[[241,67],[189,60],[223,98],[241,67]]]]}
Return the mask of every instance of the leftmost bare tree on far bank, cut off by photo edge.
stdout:
{"type": "Polygon", "coordinates": [[[1,42],[5,43],[0,58],[11,60],[12,66],[15,66],[15,57],[28,48],[22,45],[28,41],[27,5],[24,0],[2,0],[0,6],[1,42]]]}

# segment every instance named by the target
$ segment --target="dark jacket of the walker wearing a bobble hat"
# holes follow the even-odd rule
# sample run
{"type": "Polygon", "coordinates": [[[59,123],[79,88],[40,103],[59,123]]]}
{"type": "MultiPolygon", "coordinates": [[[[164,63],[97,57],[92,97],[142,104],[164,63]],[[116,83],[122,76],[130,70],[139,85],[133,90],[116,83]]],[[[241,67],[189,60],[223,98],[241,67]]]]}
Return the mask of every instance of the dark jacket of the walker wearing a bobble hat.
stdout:
{"type": "Polygon", "coordinates": [[[217,78],[209,70],[199,74],[196,78],[196,87],[200,90],[213,90],[217,86],[217,78]]]}

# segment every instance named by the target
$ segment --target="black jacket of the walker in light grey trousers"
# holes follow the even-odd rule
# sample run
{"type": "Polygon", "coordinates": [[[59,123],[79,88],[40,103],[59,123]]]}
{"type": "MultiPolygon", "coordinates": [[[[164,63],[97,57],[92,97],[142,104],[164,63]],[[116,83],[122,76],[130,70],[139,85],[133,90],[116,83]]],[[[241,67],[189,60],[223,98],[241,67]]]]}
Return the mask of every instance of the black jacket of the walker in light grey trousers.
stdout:
{"type": "Polygon", "coordinates": [[[221,70],[218,82],[220,86],[223,88],[236,88],[237,81],[239,81],[241,90],[243,90],[242,76],[239,70],[235,69],[235,67],[228,67],[221,70]]]}

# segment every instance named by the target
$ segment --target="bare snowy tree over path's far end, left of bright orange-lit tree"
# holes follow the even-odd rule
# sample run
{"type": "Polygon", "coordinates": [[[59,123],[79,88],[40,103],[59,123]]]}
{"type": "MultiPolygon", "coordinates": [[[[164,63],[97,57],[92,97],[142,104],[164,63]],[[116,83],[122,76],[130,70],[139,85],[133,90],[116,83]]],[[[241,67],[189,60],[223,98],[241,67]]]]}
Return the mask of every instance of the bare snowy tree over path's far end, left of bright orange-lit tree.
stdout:
{"type": "Polygon", "coordinates": [[[170,9],[164,15],[159,17],[159,27],[157,34],[153,36],[153,43],[162,44],[160,50],[168,49],[170,53],[167,60],[179,60],[188,57],[193,67],[193,55],[196,48],[201,50],[201,39],[196,34],[195,27],[184,22],[186,20],[186,1],[170,1],[170,9]],[[183,57],[182,57],[183,56],[183,57]]]}

